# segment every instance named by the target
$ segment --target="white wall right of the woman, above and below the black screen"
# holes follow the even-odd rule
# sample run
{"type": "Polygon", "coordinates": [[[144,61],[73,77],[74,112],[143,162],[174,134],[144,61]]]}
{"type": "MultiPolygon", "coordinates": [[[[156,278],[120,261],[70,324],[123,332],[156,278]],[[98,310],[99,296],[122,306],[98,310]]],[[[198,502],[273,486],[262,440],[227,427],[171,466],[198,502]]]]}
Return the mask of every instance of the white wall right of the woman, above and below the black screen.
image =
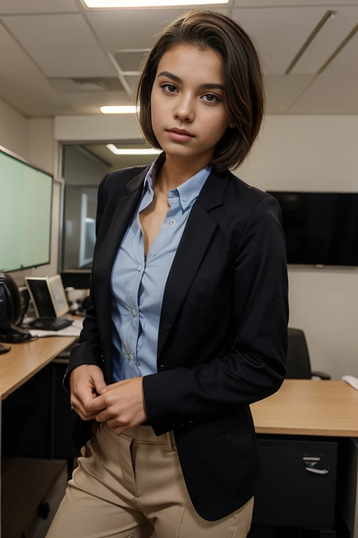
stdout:
{"type": "MultiPolygon", "coordinates": [[[[357,170],[358,116],[268,116],[234,173],[264,191],[358,192],[357,170]]],[[[313,368],[358,377],[358,270],[289,268],[289,303],[313,368]]]]}

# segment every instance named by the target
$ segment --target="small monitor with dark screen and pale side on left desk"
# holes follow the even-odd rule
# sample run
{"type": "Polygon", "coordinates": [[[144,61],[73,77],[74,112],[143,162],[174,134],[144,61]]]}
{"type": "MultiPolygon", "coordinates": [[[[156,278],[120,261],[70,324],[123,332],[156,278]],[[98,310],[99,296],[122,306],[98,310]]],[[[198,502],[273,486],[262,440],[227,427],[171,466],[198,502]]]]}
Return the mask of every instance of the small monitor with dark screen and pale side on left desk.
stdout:
{"type": "Polygon", "coordinates": [[[61,317],[69,312],[69,303],[60,275],[26,277],[25,282],[37,317],[61,317]]]}

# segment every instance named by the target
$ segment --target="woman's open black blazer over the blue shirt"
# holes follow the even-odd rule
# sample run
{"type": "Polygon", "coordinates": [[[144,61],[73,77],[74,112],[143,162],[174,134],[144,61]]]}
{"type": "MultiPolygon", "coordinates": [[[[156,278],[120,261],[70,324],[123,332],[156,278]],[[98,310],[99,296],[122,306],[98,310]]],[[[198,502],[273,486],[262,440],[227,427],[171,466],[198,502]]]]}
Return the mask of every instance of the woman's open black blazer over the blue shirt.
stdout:
{"type": "MultiPolygon", "coordinates": [[[[71,352],[67,389],[80,364],[96,364],[113,382],[110,275],[148,170],[116,170],[99,186],[92,306],[71,352]]],[[[157,373],[143,377],[148,423],[157,436],[173,429],[189,496],[206,520],[254,495],[259,465],[249,405],[285,378],[289,308],[280,219],[275,198],[229,170],[212,170],[164,290],[157,373]]],[[[77,448],[92,437],[91,426],[77,418],[77,448]]]]}

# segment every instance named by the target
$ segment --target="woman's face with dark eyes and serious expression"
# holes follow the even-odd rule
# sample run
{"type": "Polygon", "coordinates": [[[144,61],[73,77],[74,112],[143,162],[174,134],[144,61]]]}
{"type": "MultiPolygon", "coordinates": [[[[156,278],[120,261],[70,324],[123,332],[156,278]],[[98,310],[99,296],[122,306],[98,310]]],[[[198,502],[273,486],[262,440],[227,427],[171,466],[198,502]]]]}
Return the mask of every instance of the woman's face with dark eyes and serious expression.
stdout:
{"type": "Polygon", "coordinates": [[[152,87],[152,129],[169,156],[213,157],[227,127],[234,127],[224,106],[224,64],[215,50],[180,45],[166,52],[152,87]],[[169,130],[192,137],[175,139],[169,130]]]}

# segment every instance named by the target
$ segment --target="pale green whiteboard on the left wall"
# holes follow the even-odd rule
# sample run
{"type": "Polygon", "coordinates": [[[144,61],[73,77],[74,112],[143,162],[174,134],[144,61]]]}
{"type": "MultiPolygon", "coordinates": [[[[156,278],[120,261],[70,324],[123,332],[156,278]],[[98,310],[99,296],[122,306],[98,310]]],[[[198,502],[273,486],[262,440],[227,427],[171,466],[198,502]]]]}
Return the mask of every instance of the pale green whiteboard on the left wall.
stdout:
{"type": "Polygon", "coordinates": [[[53,177],[0,149],[0,271],[50,263],[53,177]]]}

